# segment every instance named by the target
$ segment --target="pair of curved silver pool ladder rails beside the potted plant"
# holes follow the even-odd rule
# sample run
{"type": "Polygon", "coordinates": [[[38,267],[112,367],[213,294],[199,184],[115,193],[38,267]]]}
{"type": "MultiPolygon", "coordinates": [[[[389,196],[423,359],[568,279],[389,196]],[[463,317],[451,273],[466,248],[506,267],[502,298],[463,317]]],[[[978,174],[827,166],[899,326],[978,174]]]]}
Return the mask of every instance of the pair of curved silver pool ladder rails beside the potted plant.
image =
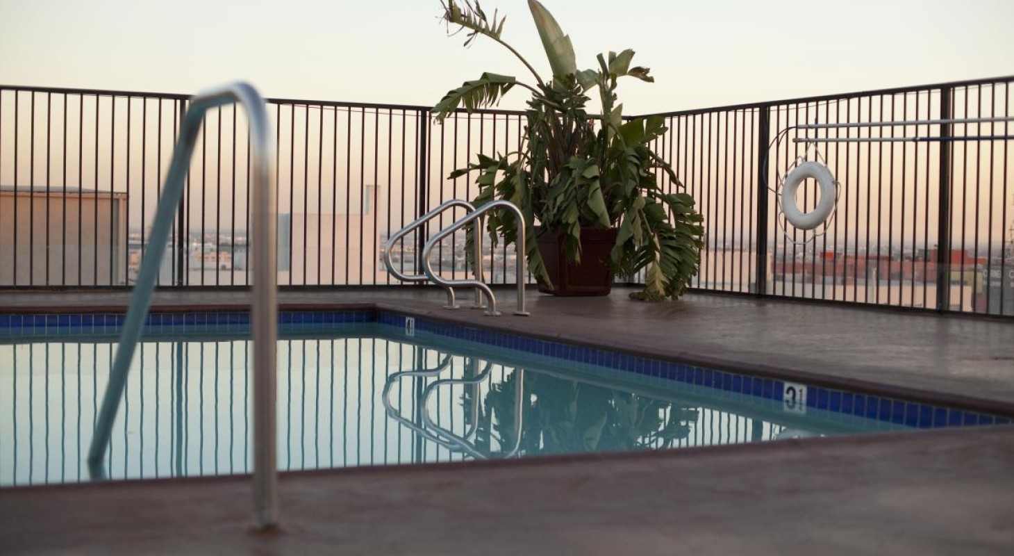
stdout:
{"type": "Polygon", "coordinates": [[[494,209],[504,209],[514,213],[514,221],[517,224],[517,240],[515,241],[515,248],[517,253],[517,265],[515,268],[515,281],[517,283],[517,306],[515,307],[514,315],[519,315],[526,317],[531,315],[525,310],[524,304],[524,280],[525,280],[525,249],[524,249],[524,215],[521,214],[521,210],[517,208],[516,205],[509,201],[493,201],[487,203],[478,209],[461,199],[454,199],[442,203],[440,206],[434,208],[433,210],[427,212],[426,214],[420,216],[414,220],[409,225],[405,226],[401,230],[396,231],[387,242],[384,244],[383,253],[383,264],[387,268],[387,271],[394,275],[395,278],[402,280],[403,282],[425,282],[427,280],[437,284],[447,290],[447,304],[444,305],[445,308],[456,309],[458,308],[457,301],[454,296],[455,287],[474,287],[476,288],[476,302],[472,305],[472,308],[486,308],[486,315],[497,316],[500,311],[497,310],[497,298],[493,294],[493,289],[486,283],[483,279],[483,216],[494,209]],[[394,244],[404,238],[413,230],[416,230],[443,213],[445,210],[459,207],[464,208],[466,214],[449,226],[437,232],[429,241],[426,242],[423,248],[423,253],[420,257],[422,260],[422,267],[424,274],[405,274],[394,268],[391,262],[391,248],[394,244]],[[475,235],[475,279],[464,279],[464,280],[448,280],[442,276],[433,272],[433,266],[430,263],[430,255],[433,253],[433,248],[437,246],[444,237],[454,233],[455,231],[463,228],[464,226],[473,224],[474,225],[474,235],[475,235]],[[487,304],[483,303],[483,295],[486,296],[487,304]]]}

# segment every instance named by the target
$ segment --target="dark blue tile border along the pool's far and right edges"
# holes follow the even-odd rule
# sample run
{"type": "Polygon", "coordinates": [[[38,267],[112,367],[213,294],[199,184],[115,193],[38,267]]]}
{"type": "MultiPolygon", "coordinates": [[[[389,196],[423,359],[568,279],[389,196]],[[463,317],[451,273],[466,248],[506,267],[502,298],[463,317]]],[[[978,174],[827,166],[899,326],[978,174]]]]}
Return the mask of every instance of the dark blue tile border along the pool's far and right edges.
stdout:
{"type": "MultiPolygon", "coordinates": [[[[115,335],[123,314],[0,314],[0,340],[32,337],[115,335]]],[[[329,327],[379,323],[404,334],[406,316],[375,309],[280,310],[283,333],[330,332],[329,327]]],[[[243,333],[249,330],[248,311],[153,312],[145,320],[145,334],[243,333]]],[[[576,344],[541,340],[463,325],[416,318],[416,331],[443,338],[487,344],[529,354],[591,364],[632,374],[665,378],[709,388],[727,396],[749,396],[783,401],[785,380],[705,368],[677,361],[621,353],[576,344]]],[[[896,400],[832,388],[807,387],[806,407],[844,417],[855,416],[914,428],[943,428],[1010,424],[1006,416],[896,400]]]]}

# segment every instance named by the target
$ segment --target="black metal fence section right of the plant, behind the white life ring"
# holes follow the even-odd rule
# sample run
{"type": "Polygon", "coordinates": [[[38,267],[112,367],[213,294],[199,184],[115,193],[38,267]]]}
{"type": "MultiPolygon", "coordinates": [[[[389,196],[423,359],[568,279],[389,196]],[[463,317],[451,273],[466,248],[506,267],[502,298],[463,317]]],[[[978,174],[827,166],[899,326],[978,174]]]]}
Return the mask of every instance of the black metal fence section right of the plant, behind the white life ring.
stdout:
{"type": "MultiPolygon", "coordinates": [[[[695,285],[1014,316],[1011,81],[665,115],[659,148],[706,219],[695,285]],[[776,193],[814,159],[838,202],[826,227],[805,232],[776,193]]],[[[796,202],[808,211],[818,196],[805,184],[796,202]]]]}

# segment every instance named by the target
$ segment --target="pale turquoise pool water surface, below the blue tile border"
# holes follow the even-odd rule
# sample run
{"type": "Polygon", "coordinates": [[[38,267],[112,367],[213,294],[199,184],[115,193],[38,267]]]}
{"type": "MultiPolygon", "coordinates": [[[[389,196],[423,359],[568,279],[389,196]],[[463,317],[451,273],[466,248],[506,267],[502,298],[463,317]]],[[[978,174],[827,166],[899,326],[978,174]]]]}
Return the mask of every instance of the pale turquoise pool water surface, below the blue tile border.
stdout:
{"type": "MultiPolygon", "coordinates": [[[[482,346],[415,344],[361,324],[278,345],[279,468],[658,449],[901,428],[806,421],[770,400],[482,346]]],[[[115,340],[0,344],[0,485],[88,480],[115,340]]],[[[247,473],[251,350],[236,337],[138,346],[106,463],[113,479],[247,473]]],[[[826,417],[826,416],[825,416],[826,417]]]]}

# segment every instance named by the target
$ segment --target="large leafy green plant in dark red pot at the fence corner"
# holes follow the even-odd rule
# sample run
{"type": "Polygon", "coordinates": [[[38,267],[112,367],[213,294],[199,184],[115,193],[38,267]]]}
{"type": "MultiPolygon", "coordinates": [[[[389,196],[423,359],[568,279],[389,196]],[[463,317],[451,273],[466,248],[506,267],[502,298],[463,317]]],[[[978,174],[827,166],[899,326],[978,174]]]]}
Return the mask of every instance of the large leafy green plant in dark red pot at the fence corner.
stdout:
{"type": "MultiPolygon", "coordinates": [[[[530,91],[519,151],[479,154],[475,162],[450,178],[478,172],[477,206],[495,199],[510,201],[525,218],[528,269],[539,289],[563,294],[604,294],[613,275],[633,276],[647,268],[643,291],[631,296],[661,300],[681,295],[700,266],[703,218],[686,193],[665,193],[659,173],[682,189],[671,166],[652,149],[666,131],[660,117],[625,121],[617,102],[617,81],[634,77],[652,82],[648,69],[632,65],[634,51],[598,56],[598,68],[578,71],[570,38],[537,1],[529,0],[553,78],[544,80],[501,34],[504,18],[488,18],[465,0],[443,4],[448,26],[467,32],[465,45],[486,37],[503,45],[531,72],[534,84],[514,77],[484,73],[447,94],[433,108],[438,122],[458,109],[469,113],[494,105],[515,86],[530,91]],[[601,101],[600,114],[586,105],[592,89],[601,101]],[[536,228],[536,222],[540,224],[536,228]],[[596,252],[594,242],[604,242],[596,252]],[[558,254],[548,253],[553,248],[558,254]],[[596,271],[602,288],[585,287],[596,271]],[[561,279],[577,278],[576,288],[561,279]]],[[[456,32],[456,31],[455,31],[456,32]]],[[[514,216],[491,213],[487,228],[492,241],[498,235],[514,241],[514,216]]],[[[468,251],[470,253],[470,250],[468,251]]]]}

